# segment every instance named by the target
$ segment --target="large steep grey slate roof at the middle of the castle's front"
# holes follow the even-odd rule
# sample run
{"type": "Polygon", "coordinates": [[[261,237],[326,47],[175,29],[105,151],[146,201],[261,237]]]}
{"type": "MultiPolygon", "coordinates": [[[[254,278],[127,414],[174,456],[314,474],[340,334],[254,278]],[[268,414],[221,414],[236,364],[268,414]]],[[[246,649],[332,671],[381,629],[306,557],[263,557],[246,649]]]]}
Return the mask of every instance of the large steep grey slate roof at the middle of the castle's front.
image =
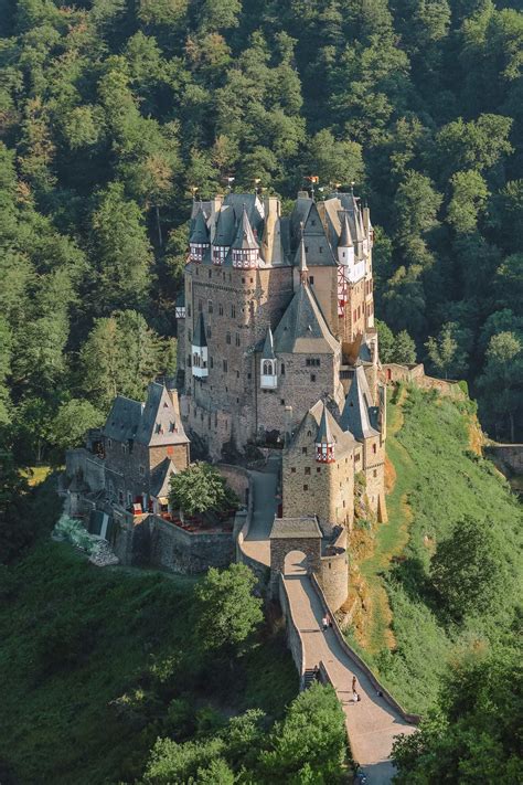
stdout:
{"type": "Polygon", "coordinates": [[[301,283],[287,306],[274,337],[276,353],[332,354],[340,348],[314,295],[301,283]]]}

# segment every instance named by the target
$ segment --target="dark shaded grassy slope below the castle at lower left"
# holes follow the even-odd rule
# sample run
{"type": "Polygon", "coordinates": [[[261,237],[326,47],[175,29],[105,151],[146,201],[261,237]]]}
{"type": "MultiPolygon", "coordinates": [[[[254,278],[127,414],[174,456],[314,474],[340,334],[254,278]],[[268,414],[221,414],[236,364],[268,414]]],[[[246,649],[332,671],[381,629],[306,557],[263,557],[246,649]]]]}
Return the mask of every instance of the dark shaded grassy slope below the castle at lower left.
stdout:
{"type": "Polygon", "coordinates": [[[174,697],[191,706],[282,713],[298,685],[281,637],[260,637],[232,681],[200,661],[193,585],[152,571],[99,570],[46,537],[0,571],[0,762],[18,782],[139,775],[157,735],[169,732],[173,694],[153,675],[159,664],[174,662],[174,697]],[[136,711],[125,717],[110,706],[136,688],[145,691],[136,711]]]}

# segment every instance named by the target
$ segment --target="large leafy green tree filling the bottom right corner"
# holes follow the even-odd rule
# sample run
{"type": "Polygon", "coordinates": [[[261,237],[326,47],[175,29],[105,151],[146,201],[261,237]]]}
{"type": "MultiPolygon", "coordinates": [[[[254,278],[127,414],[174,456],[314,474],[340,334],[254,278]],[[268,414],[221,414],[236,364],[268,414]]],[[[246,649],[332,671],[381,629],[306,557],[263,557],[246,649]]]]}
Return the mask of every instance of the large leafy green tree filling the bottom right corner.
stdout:
{"type": "Polygon", "coordinates": [[[455,665],[442,683],[437,710],[416,733],[394,742],[398,785],[520,782],[522,688],[515,648],[455,665]]]}

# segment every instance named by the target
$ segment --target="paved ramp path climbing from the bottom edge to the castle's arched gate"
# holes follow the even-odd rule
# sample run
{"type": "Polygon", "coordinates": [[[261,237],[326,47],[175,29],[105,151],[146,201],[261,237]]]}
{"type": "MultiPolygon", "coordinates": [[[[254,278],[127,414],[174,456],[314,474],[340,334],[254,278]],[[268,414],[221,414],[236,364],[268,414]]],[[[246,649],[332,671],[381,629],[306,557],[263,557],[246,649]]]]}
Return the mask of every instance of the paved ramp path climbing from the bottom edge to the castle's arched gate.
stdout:
{"type": "Polygon", "coordinates": [[[312,583],[300,564],[293,564],[285,576],[292,617],[305,648],[305,669],[323,662],[346,718],[346,730],[354,759],[372,785],[389,783],[394,766],[389,760],[393,739],[413,733],[416,728],[405,722],[388,703],[376,694],[364,671],[342,649],[332,629],[321,629],[323,607],[312,583]],[[352,701],[352,677],[357,680],[361,701],[352,701]]]}

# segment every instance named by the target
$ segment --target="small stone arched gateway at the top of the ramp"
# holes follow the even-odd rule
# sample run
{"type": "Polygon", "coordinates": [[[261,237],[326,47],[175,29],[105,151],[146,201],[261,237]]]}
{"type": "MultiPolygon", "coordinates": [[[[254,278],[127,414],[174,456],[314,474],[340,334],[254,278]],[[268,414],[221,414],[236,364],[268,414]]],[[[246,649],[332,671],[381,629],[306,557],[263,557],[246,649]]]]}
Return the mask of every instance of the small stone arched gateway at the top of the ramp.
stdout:
{"type": "Polygon", "coordinates": [[[277,592],[278,576],[286,572],[286,556],[299,551],[305,556],[307,572],[320,575],[321,531],[313,516],[275,518],[270,531],[270,586],[277,592]]]}

